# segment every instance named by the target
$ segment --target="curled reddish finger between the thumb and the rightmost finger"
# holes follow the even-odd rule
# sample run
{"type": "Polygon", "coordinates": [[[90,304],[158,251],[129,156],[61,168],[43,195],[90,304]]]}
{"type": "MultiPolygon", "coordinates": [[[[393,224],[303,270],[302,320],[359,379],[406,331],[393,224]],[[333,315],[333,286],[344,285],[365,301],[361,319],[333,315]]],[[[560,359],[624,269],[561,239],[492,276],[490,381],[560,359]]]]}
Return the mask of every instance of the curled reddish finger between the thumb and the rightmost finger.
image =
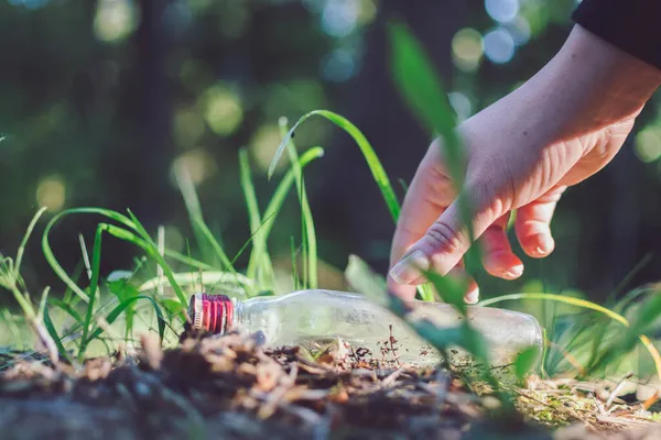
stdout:
{"type": "Polygon", "coordinates": [[[505,279],[516,279],[523,274],[523,263],[510,246],[507,238],[509,212],[487,228],[480,243],[484,246],[483,264],[489,275],[505,279]]]}

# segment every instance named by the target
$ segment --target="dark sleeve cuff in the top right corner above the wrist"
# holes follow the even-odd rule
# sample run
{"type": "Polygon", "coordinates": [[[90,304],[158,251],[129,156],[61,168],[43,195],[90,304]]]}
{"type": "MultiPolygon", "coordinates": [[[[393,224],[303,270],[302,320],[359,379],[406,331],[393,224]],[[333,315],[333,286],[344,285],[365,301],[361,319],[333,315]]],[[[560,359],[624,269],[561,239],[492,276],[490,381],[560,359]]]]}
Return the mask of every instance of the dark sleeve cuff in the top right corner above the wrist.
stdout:
{"type": "Polygon", "coordinates": [[[583,0],[572,19],[661,69],[661,0],[583,0]]]}

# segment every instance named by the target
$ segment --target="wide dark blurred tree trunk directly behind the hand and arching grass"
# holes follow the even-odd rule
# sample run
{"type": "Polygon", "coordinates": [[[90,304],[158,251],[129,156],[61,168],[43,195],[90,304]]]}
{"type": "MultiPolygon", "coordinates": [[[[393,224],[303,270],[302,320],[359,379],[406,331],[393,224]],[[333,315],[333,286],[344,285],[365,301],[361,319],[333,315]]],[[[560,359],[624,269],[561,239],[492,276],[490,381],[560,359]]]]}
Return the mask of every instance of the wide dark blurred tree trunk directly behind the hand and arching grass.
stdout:
{"type": "MultiPolygon", "coordinates": [[[[362,69],[348,85],[338,87],[343,106],[335,109],[355,123],[372,144],[400,200],[431,139],[409,112],[390,78],[387,21],[408,23],[432,57],[448,88],[452,73],[451,41],[460,29],[468,7],[460,0],[382,2],[366,36],[362,69]]],[[[312,209],[318,229],[322,257],[344,268],[347,253],[364,257],[380,272],[388,268],[394,224],[371,174],[354,141],[337,133],[328,146],[325,166],[308,179],[312,209]],[[333,244],[325,244],[332,242],[333,244]],[[346,243],[347,248],[339,248],[346,243]]]]}

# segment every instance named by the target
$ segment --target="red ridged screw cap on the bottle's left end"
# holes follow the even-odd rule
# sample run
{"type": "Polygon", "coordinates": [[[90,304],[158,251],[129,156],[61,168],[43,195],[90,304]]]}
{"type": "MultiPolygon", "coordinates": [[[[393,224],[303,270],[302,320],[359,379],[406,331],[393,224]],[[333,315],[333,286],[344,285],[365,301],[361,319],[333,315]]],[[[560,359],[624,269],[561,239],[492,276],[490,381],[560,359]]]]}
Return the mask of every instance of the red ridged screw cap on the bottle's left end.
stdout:
{"type": "Polygon", "coordinates": [[[195,294],[188,301],[188,315],[194,329],[223,334],[232,323],[234,302],[225,295],[195,294]]]}

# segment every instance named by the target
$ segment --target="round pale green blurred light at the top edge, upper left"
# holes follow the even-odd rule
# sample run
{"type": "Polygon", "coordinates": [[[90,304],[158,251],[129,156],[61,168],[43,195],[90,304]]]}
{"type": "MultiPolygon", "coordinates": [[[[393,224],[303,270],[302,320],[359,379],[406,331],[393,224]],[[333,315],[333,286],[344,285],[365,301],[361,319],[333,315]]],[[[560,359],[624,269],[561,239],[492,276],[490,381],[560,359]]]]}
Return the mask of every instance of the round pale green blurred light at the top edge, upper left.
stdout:
{"type": "Polygon", "coordinates": [[[138,26],[138,9],[131,0],[99,0],[94,34],[106,43],[127,38],[138,26]]]}

